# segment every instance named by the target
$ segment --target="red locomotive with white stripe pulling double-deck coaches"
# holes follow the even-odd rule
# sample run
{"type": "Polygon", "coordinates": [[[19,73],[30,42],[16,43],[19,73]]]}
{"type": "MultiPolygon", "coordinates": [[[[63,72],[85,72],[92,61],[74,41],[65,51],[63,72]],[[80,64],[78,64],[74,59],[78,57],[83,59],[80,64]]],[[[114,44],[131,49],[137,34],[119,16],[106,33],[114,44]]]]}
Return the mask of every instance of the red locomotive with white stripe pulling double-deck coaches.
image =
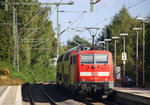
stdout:
{"type": "Polygon", "coordinates": [[[90,45],[72,48],[58,57],[56,79],[73,93],[107,98],[114,87],[112,53],[90,45]]]}

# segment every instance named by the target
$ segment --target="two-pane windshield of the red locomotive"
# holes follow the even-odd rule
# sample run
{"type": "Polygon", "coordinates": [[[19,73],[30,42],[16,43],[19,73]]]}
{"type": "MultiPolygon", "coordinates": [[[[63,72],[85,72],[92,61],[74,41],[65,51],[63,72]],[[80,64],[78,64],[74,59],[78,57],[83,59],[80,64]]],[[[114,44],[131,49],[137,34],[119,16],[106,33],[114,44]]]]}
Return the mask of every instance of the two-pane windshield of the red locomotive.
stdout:
{"type": "Polygon", "coordinates": [[[82,54],[81,64],[108,64],[107,54],[82,54]]]}

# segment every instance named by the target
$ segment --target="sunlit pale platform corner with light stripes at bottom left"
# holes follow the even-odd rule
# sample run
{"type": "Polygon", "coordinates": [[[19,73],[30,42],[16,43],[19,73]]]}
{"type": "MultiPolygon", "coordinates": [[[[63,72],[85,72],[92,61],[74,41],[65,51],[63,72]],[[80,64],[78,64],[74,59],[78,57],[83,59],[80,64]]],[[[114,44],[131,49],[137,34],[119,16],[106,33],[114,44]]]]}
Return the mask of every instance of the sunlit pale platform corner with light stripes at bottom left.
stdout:
{"type": "Polygon", "coordinates": [[[0,86],[0,105],[23,105],[21,86],[0,86]]]}

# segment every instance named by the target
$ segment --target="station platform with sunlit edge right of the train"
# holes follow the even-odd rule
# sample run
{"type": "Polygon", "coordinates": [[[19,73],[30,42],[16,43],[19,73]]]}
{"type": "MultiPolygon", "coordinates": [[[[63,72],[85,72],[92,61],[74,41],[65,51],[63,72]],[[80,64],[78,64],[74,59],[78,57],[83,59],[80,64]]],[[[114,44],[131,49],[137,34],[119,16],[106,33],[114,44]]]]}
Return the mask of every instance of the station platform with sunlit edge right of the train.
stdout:
{"type": "Polygon", "coordinates": [[[115,101],[121,105],[150,105],[150,88],[115,87],[115,101]]]}

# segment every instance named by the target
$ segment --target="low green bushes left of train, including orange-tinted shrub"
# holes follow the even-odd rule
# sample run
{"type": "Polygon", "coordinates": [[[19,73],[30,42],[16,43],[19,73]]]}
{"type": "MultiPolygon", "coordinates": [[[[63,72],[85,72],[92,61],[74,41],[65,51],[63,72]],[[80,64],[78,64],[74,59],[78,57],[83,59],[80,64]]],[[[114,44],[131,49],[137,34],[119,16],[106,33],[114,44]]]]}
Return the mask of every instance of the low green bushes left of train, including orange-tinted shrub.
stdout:
{"type": "Polygon", "coordinates": [[[0,75],[4,75],[4,73],[6,75],[9,74],[11,78],[18,78],[24,82],[30,83],[55,81],[55,67],[53,66],[44,67],[37,64],[32,67],[21,66],[21,69],[22,70],[18,72],[13,69],[12,64],[4,61],[0,62],[0,75]]]}

